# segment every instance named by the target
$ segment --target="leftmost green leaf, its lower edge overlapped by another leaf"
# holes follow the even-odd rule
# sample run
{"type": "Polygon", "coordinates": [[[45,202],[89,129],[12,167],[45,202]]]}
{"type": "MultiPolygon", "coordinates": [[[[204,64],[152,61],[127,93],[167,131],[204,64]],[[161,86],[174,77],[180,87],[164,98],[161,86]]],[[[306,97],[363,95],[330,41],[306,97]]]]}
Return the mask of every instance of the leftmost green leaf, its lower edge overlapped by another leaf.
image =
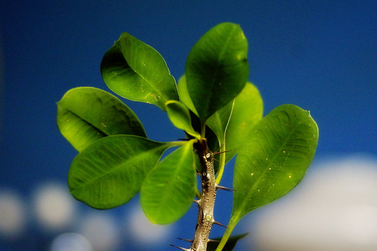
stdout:
{"type": "Polygon", "coordinates": [[[94,141],[115,134],[147,137],[135,113],[112,94],[93,87],[67,91],[57,103],[57,125],[79,152],[94,141]]]}

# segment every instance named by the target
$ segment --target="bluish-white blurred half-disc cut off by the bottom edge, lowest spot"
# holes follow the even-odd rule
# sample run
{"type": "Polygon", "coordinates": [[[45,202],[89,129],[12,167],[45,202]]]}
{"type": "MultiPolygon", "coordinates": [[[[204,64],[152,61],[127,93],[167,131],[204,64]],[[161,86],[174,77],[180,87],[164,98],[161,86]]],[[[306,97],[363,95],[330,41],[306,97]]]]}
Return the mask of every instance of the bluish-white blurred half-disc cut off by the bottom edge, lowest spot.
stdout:
{"type": "Polygon", "coordinates": [[[77,233],[63,233],[55,237],[51,251],[92,251],[89,241],[77,233]]]}

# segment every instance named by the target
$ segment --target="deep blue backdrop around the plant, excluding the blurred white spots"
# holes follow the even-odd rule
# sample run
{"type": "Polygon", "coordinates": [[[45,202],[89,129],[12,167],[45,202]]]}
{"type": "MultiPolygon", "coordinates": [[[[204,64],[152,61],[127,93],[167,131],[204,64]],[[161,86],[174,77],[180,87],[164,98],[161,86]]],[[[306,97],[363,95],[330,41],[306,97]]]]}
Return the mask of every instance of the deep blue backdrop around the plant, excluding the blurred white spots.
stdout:
{"type": "MultiPolygon", "coordinates": [[[[376,1],[345,0],[2,1],[0,189],[12,190],[28,201],[46,181],[65,185],[77,152],[58,132],[55,103],[78,86],[109,91],[101,79],[100,62],[121,32],[154,47],[178,80],[191,47],[208,29],[224,21],[240,24],[249,41],[249,80],[261,92],[265,114],[285,103],[311,111],[319,126],[314,161],[355,153],[375,157],[376,10],[376,1]]],[[[124,102],[152,140],[182,137],[156,106],[124,102]]],[[[231,172],[227,174],[224,185],[231,186],[231,172]]],[[[231,205],[219,201],[215,207],[231,205]]],[[[78,207],[81,212],[90,211],[84,205],[78,207]]],[[[130,207],[110,212],[117,217],[130,207]]],[[[189,223],[174,237],[192,238],[195,211],[182,219],[182,224],[189,223]]],[[[230,209],[219,210],[224,224],[227,213],[230,209]]],[[[36,238],[43,250],[49,250],[56,233],[33,222],[30,216],[28,234],[17,240],[0,237],[0,247],[17,250],[36,238]]],[[[116,250],[132,245],[136,244],[126,238],[116,250]]],[[[42,249],[31,245],[28,250],[42,249]]]]}

